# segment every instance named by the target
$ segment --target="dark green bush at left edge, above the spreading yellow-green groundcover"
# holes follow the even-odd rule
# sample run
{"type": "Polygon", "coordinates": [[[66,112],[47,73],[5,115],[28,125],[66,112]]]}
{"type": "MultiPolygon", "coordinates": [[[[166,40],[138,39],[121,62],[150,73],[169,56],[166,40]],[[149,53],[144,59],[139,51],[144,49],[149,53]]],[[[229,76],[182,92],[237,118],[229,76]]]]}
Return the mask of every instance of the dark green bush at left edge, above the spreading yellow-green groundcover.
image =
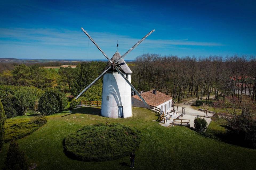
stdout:
{"type": "Polygon", "coordinates": [[[16,100],[13,95],[2,97],[2,104],[7,118],[22,116],[22,109],[17,104],[15,104],[15,101],[16,100]]]}

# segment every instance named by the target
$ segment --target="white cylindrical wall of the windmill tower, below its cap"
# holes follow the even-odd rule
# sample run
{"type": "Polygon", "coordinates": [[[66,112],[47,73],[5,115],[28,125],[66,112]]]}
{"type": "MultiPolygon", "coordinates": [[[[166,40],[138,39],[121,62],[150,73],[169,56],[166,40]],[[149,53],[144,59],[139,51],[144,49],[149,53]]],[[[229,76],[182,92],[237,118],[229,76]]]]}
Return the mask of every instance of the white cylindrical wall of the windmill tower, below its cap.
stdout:
{"type": "MultiPolygon", "coordinates": [[[[131,82],[131,74],[128,74],[128,80],[131,82]]],[[[118,106],[123,106],[124,118],[132,116],[131,87],[119,73],[106,73],[103,76],[101,115],[118,118],[118,106]]]]}

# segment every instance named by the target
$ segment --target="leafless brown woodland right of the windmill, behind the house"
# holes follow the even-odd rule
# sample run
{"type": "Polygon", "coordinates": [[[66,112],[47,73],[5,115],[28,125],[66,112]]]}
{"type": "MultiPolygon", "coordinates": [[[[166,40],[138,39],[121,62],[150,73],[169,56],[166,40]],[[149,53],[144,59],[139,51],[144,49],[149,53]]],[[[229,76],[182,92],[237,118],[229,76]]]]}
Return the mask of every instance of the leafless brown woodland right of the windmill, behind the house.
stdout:
{"type": "Polygon", "coordinates": [[[251,56],[210,56],[182,57],[143,54],[135,59],[132,82],[137,90],[156,89],[177,99],[189,95],[203,96],[215,100],[238,97],[245,94],[256,100],[256,57],[251,56]]]}

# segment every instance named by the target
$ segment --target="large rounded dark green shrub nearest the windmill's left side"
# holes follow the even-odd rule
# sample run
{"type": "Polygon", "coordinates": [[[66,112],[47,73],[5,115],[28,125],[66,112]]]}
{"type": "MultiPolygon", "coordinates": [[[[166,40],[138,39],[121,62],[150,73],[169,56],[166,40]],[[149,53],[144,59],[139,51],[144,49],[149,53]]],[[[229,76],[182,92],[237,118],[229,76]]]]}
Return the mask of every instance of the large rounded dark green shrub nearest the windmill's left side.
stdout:
{"type": "Polygon", "coordinates": [[[43,114],[54,114],[63,111],[67,104],[65,93],[50,89],[40,97],[38,110],[43,114]]]}

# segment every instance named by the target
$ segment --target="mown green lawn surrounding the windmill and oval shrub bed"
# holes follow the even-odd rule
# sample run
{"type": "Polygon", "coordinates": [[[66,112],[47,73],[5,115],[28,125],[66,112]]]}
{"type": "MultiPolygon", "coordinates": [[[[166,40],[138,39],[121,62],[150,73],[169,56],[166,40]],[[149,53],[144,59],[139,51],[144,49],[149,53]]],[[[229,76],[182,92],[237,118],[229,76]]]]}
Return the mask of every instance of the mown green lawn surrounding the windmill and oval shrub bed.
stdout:
{"type": "MultiPolygon", "coordinates": [[[[58,113],[29,136],[19,139],[30,163],[36,169],[129,169],[129,156],[106,162],[81,162],[63,152],[63,139],[79,128],[97,123],[120,123],[142,132],[135,152],[136,169],[255,169],[256,150],[229,145],[207,138],[186,127],[165,128],[154,112],[133,108],[133,117],[112,119],[100,116],[100,107],[79,108],[74,114],[58,113]],[[127,165],[128,164],[128,165],[127,165]]],[[[23,118],[28,118],[25,116],[23,118]]],[[[3,166],[9,144],[0,152],[3,166]]]]}

